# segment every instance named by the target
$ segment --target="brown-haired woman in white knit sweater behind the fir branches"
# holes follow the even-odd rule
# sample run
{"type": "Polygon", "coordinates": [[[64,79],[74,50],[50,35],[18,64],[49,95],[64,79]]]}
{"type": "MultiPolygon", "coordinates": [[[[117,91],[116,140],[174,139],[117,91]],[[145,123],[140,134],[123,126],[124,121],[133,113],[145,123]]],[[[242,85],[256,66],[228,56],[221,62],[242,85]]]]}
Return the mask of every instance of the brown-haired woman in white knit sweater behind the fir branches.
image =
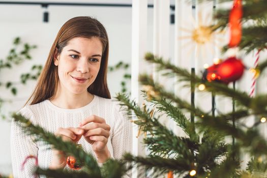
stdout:
{"type": "MultiPolygon", "coordinates": [[[[131,152],[131,123],[112,102],[107,87],[108,37],[91,17],[75,17],[60,29],[51,47],[29,105],[20,113],[63,140],[82,145],[98,163],[131,152]]],[[[27,104],[26,103],[26,104],[27,104]]],[[[64,168],[65,155],[44,142],[35,142],[13,122],[11,155],[14,177],[31,177],[34,160],[41,168],[64,168]]]]}

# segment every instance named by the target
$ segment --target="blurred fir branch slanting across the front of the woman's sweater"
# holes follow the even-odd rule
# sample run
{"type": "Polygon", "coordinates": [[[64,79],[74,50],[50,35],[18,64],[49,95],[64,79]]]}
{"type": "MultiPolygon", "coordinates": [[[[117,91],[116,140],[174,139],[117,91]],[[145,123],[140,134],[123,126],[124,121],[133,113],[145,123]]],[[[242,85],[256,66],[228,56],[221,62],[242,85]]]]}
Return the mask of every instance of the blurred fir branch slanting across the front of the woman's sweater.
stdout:
{"type": "Polygon", "coordinates": [[[21,114],[13,114],[12,117],[20,127],[28,135],[36,136],[36,141],[45,141],[53,145],[54,149],[61,150],[67,155],[72,155],[76,158],[77,162],[84,162],[84,165],[96,176],[101,177],[100,168],[92,155],[86,154],[82,149],[77,149],[76,145],[72,142],[63,141],[61,137],[56,137],[53,133],[45,131],[40,126],[35,126],[27,118],[21,114]]]}

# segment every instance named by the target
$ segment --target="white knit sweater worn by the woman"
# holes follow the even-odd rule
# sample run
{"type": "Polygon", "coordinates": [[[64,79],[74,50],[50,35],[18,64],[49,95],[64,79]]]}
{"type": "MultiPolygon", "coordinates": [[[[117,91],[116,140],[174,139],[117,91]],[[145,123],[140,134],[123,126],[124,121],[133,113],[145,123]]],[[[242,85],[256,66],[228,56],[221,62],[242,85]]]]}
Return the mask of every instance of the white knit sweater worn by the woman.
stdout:
{"type": "MultiPolygon", "coordinates": [[[[111,127],[107,147],[111,157],[122,158],[126,152],[132,152],[132,125],[125,117],[118,102],[94,96],[91,103],[77,109],[63,109],[53,105],[49,100],[23,107],[19,113],[33,124],[38,124],[46,131],[54,133],[57,128],[78,127],[79,123],[90,115],[97,115],[106,120],[111,127]]],[[[82,149],[97,159],[91,144],[82,137],[79,142],[82,149]]],[[[38,156],[41,168],[48,168],[52,161],[51,146],[45,142],[35,142],[32,136],[24,132],[13,121],[11,125],[11,157],[13,175],[17,177],[33,177],[35,160],[28,160],[21,170],[21,164],[28,155],[38,156]]]]}

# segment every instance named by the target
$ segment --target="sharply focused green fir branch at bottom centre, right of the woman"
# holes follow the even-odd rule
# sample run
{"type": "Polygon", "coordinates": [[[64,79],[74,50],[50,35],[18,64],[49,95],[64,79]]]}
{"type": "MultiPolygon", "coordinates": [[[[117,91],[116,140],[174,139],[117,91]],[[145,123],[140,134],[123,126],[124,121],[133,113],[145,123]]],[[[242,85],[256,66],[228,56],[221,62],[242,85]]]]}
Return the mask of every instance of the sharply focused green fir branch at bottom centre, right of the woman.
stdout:
{"type": "MultiPolygon", "coordinates": [[[[147,83],[145,83],[147,85],[147,83]]],[[[156,85],[156,84],[155,84],[156,85]]],[[[153,89],[156,86],[153,86],[153,89]]],[[[155,91],[158,93],[159,91],[155,91]]],[[[162,92],[162,90],[161,90],[162,92]]],[[[175,102],[165,97],[163,93],[157,96],[148,96],[144,94],[144,99],[151,102],[155,112],[164,113],[177,125],[181,126],[186,137],[176,136],[171,130],[162,125],[159,120],[163,114],[158,117],[152,116],[151,109],[144,106],[141,109],[134,101],[131,101],[125,94],[118,94],[116,99],[121,101],[123,106],[128,107],[128,114],[135,117],[133,122],[139,126],[143,132],[148,132],[148,137],[144,138],[144,143],[150,151],[149,157],[135,157],[127,155],[126,160],[133,161],[139,166],[145,166],[147,169],[156,170],[156,172],[165,172],[172,170],[181,177],[188,177],[189,172],[194,169],[198,176],[207,175],[210,171],[220,166],[217,160],[225,160],[224,157],[230,156],[228,145],[224,143],[224,135],[214,130],[205,129],[204,135],[200,140],[199,135],[195,132],[194,127],[178,107],[173,106],[175,102]],[[169,101],[168,101],[169,100],[169,101]],[[134,115],[132,113],[134,112],[134,115]]],[[[231,172],[235,174],[235,170],[231,172]]]]}

